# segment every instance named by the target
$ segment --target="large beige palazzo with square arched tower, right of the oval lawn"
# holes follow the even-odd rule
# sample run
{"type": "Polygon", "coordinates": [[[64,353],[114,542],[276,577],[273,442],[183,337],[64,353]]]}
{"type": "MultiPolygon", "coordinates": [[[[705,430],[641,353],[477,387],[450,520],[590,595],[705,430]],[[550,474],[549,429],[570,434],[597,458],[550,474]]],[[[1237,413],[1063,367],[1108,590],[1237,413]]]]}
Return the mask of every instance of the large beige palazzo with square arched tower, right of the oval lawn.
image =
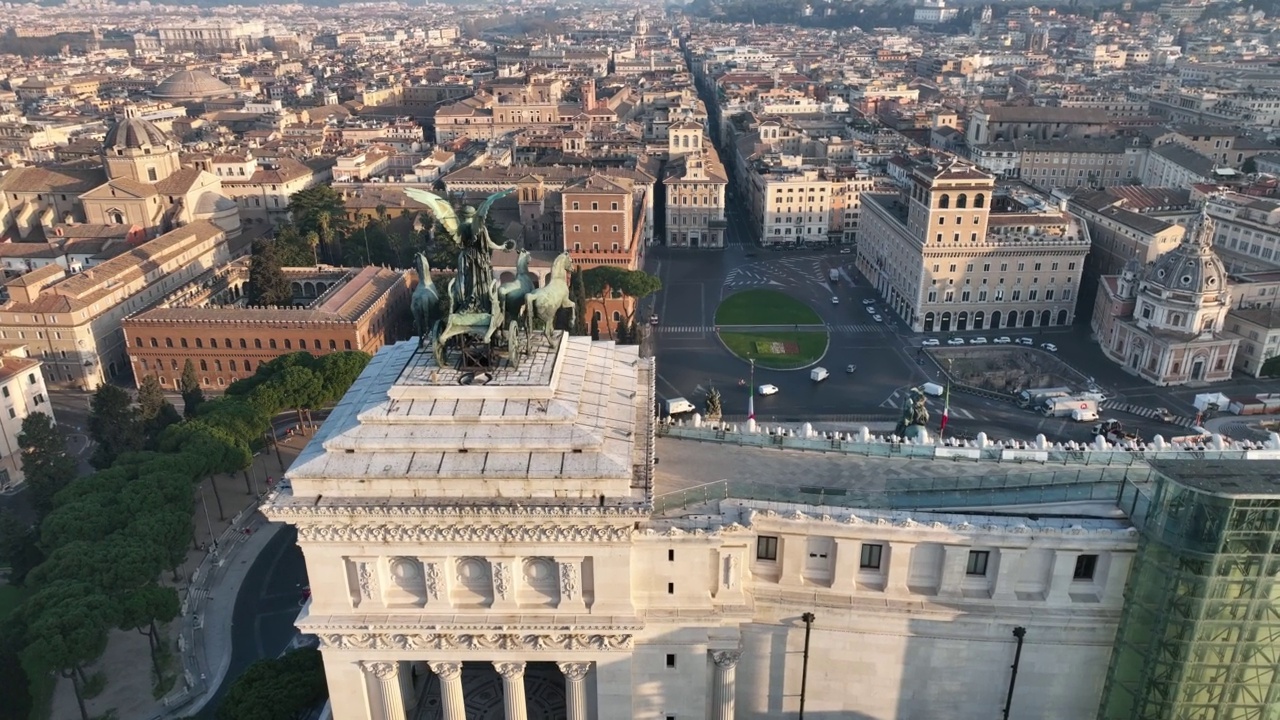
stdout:
{"type": "Polygon", "coordinates": [[[863,201],[858,266],[915,332],[1074,322],[1088,232],[1042,199],[951,160],[863,201]]]}

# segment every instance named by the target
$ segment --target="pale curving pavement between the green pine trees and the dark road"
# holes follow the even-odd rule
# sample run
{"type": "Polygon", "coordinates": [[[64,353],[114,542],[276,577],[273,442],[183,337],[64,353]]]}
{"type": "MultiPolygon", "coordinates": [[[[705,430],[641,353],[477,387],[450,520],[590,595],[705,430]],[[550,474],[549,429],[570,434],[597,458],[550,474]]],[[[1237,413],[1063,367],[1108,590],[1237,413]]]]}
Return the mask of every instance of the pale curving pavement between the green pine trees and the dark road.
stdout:
{"type": "MultiPolygon", "coordinates": [[[[163,629],[177,664],[170,665],[169,671],[177,673],[178,679],[165,698],[154,700],[155,683],[147,660],[146,637],[132,630],[114,630],[102,657],[86,667],[87,674],[102,673],[106,676],[102,693],[86,701],[91,716],[114,708],[119,720],[186,717],[198,711],[218,688],[230,665],[230,624],[241,583],[253,559],[280,529],[257,512],[260,497],[266,492],[266,478],[279,479],[283,475],[282,460],[283,468],[288,468],[307,439],[294,436],[280,441],[279,460],[270,448],[259,454],[247,486],[241,473],[200,483],[193,506],[195,542],[200,548],[187,553],[177,583],[169,573],[161,577],[163,583],[178,588],[183,601],[182,616],[163,629]],[[212,483],[216,483],[218,497],[221,498],[221,512],[212,483]],[[212,552],[215,538],[216,561],[212,552]]],[[[70,683],[59,679],[50,717],[78,716],[70,683]]]]}

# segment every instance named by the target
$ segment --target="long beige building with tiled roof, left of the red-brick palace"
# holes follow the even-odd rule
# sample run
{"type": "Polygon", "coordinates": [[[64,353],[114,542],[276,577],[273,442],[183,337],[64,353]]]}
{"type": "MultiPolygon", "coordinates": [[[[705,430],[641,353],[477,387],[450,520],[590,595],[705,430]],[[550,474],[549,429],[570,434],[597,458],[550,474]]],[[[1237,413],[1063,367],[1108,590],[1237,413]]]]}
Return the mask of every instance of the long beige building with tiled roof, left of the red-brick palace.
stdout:
{"type": "Polygon", "coordinates": [[[196,220],[77,274],[45,265],[5,283],[0,342],[27,345],[50,386],[97,389],[127,372],[120,327],[127,315],[227,263],[246,245],[233,246],[227,231],[196,220]]]}

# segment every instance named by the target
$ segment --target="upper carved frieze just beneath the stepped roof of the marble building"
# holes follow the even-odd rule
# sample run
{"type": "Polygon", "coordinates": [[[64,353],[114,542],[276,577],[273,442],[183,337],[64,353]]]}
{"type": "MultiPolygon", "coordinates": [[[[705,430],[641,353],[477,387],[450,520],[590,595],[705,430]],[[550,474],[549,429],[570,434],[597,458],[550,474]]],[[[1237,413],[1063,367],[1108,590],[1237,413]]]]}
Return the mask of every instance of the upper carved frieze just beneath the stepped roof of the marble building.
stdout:
{"type": "Polygon", "coordinates": [[[626,542],[627,525],[298,525],[302,542],[626,542]]]}

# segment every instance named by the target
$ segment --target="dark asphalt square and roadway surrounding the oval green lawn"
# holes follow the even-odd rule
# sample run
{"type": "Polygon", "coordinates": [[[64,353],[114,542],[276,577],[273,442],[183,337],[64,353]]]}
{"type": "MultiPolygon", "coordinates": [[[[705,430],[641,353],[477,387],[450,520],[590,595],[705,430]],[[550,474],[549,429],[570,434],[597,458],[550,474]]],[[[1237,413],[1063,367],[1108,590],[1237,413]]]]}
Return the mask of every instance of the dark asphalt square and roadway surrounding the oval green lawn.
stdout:
{"type": "MultiPolygon", "coordinates": [[[[652,302],[659,316],[654,331],[658,357],[658,396],[686,397],[701,407],[709,387],[719,389],[727,418],[745,418],[750,366],[735,357],[716,336],[716,307],[737,291],[750,288],[778,290],[810,305],[831,333],[827,354],[817,363],[831,377],[815,383],[806,369],[756,369],[754,386],[774,384],[780,392],[755,397],[756,419],[762,423],[827,421],[891,423],[901,411],[911,387],[924,382],[945,382],[941,368],[929,354],[919,354],[924,337],[947,336],[913,333],[897,318],[881,313],[876,323],[867,313],[864,300],[876,300],[874,290],[856,268],[854,256],[837,249],[764,250],[744,242],[748,237],[741,215],[730,222],[730,241],[724,250],[685,250],[654,247],[649,251],[646,269],[662,278],[663,290],[652,302]],[[829,270],[840,274],[829,281],[829,270]],[[838,304],[832,304],[838,297],[838,304]],[[846,365],[856,372],[845,372],[846,365]]],[[[1012,332],[1012,331],[1010,331],[1012,332]]],[[[1004,332],[986,331],[959,333],[961,337],[997,337],[1004,332]]],[[[1030,337],[1037,346],[1053,342],[1059,357],[1107,392],[1111,405],[1140,406],[1138,414],[1103,409],[1103,416],[1117,418],[1142,437],[1161,434],[1166,438],[1189,434],[1187,427],[1194,418],[1192,401],[1197,392],[1212,388],[1157,388],[1126,374],[1107,361],[1089,340],[1088,328],[1019,329],[1018,337],[1030,337]],[[1165,423],[1156,418],[1156,409],[1166,407],[1183,418],[1165,423]]],[[[1037,350],[1039,352],[1039,350],[1037,350]]],[[[1262,383],[1231,383],[1224,392],[1261,392],[1262,383]]],[[[941,398],[928,398],[931,415],[941,419],[941,398]]],[[[951,396],[948,434],[973,437],[987,432],[991,437],[1032,438],[1044,433],[1051,439],[1089,441],[1092,423],[1043,418],[1021,410],[1011,402],[989,400],[959,392],[951,396]]]]}

